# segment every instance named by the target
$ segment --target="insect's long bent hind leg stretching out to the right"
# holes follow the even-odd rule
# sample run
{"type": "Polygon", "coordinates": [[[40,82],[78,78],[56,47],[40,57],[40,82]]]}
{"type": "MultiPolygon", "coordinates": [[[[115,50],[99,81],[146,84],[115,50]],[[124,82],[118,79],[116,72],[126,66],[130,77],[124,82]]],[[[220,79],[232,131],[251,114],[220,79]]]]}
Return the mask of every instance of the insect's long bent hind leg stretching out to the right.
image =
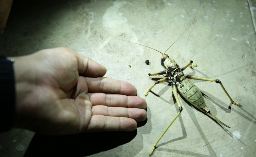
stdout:
{"type": "Polygon", "coordinates": [[[227,92],[227,90],[224,88],[223,84],[221,83],[220,80],[218,79],[207,79],[204,77],[199,77],[199,76],[195,76],[195,75],[187,75],[186,76],[188,79],[194,79],[194,80],[203,80],[203,81],[210,81],[210,82],[216,82],[218,84],[220,84],[221,88],[223,89],[223,91],[226,93],[226,95],[229,97],[229,100],[231,101],[232,104],[235,104],[237,106],[241,106],[241,104],[239,102],[235,102],[229,95],[229,93],[227,92]]]}

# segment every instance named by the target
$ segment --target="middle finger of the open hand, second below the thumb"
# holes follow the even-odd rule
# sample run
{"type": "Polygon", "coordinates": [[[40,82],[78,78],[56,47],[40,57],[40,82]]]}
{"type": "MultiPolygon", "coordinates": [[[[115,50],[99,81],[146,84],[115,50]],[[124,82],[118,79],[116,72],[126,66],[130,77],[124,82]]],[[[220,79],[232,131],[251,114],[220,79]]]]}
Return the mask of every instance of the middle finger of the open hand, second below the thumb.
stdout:
{"type": "Polygon", "coordinates": [[[119,94],[89,93],[91,104],[109,107],[142,108],[146,109],[146,101],[137,96],[126,96],[119,94]]]}

